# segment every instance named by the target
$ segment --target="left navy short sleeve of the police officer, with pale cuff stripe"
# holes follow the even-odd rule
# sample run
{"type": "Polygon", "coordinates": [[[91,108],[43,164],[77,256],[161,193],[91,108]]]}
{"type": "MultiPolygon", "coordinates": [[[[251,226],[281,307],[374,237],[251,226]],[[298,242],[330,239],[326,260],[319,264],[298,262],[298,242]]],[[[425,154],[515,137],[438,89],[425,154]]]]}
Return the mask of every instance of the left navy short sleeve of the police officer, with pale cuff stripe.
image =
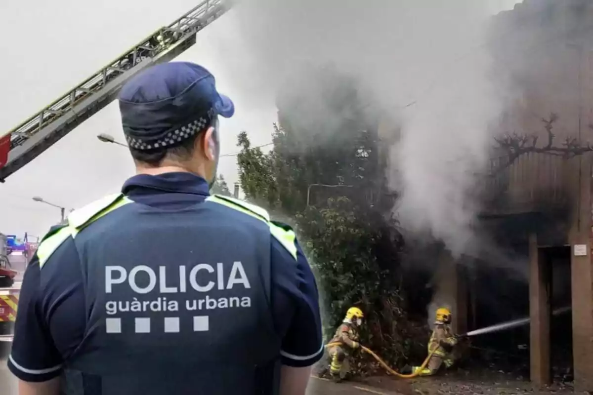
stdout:
{"type": "Polygon", "coordinates": [[[8,368],[23,381],[58,377],[63,361],[82,340],[84,291],[78,252],[68,237],[40,267],[27,266],[18,300],[8,368]]]}

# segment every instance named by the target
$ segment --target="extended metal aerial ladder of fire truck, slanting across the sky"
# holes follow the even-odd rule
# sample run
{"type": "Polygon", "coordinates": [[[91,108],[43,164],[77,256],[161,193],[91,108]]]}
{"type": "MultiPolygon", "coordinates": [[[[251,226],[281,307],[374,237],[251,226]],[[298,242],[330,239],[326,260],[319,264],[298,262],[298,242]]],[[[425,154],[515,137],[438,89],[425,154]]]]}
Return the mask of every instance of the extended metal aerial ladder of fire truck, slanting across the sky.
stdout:
{"type": "Polygon", "coordinates": [[[168,62],[196,43],[196,34],[231,8],[206,0],[70,89],[14,129],[0,134],[0,182],[113,101],[134,75],[168,62]]]}

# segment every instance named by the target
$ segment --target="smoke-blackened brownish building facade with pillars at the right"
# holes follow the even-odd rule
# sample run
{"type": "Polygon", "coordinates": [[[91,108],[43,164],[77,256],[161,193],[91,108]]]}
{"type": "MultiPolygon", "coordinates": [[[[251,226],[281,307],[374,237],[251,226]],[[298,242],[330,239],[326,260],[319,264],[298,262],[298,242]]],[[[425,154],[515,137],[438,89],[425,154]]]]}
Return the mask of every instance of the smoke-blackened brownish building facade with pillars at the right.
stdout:
{"type": "MultiPolygon", "coordinates": [[[[553,274],[562,262],[569,266],[575,390],[593,391],[593,2],[525,0],[496,15],[490,33],[505,107],[496,127],[511,137],[493,153],[480,221],[528,258],[534,384],[551,381],[554,285],[565,286],[553,274]]],[[[447,253],[441,268],[463,332],[471,281],[447,253]]]]}

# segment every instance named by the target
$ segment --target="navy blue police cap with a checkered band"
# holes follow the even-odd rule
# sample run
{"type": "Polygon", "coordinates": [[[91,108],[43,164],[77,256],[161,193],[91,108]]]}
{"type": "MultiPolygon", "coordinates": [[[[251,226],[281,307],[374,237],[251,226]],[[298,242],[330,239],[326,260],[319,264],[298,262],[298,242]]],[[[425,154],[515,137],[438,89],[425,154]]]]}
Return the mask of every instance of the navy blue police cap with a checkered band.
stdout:
{"type": "Polygon", "coordinates": [[[127,143],[139,150],[175,146],[218,115],[235,113],[214,76],[190,62],[162,63],[134,76],[119,94],[119,109],[127,143]]]}

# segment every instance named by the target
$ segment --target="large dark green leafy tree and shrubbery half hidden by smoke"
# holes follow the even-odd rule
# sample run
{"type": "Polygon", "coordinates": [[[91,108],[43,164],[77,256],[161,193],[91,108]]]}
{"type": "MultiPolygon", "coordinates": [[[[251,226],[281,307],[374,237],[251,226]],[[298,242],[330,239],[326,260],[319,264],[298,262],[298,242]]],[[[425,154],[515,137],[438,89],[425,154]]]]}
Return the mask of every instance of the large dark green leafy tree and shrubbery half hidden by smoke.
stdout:
{"type": "Polygon", "coordinates": [[[386,192],[377,120],[365,110],[355,79],[318,70],[313,80],[311,89],[298,89],[307,93],[280,92],[272,151],[239,134],[241,187],[297,232],[323,293],[326,336],[347,307],[362,307],[364,343],[396,361],[409,351],[396,283],[403,240],[389,215],[393,196],[386,192]],[[314,121],[310,105],[319,98],[311,95],[327,98],[330,107],[314,121]]]}

